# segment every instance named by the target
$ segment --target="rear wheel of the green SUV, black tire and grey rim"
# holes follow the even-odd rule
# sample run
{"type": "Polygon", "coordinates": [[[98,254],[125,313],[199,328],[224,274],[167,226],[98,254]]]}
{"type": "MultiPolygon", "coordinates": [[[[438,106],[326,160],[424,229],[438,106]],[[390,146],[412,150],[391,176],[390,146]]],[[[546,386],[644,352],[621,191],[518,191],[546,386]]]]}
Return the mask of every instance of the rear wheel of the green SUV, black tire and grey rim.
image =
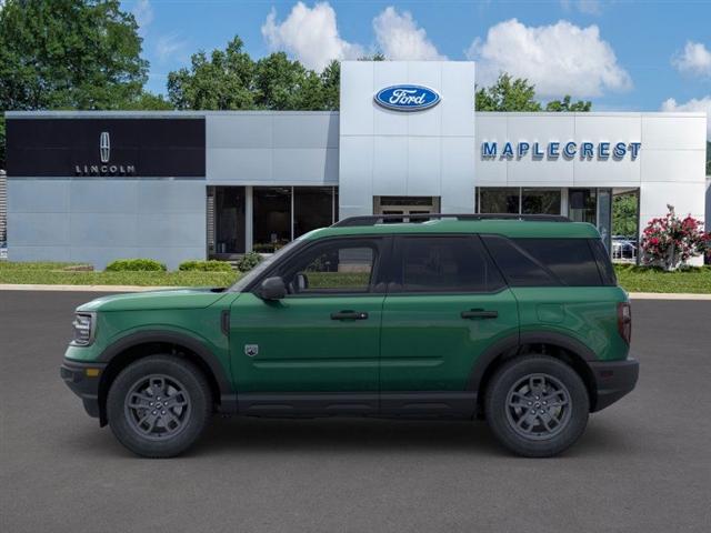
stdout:
{"type": "Polygon", "coordinates": [[[583,381],[564,362],[548,355],[522,355],[504,363],[492,376],[484,412],[493,434],[513,453],[549,457],[582,435],[590,399],[583,381]]]}

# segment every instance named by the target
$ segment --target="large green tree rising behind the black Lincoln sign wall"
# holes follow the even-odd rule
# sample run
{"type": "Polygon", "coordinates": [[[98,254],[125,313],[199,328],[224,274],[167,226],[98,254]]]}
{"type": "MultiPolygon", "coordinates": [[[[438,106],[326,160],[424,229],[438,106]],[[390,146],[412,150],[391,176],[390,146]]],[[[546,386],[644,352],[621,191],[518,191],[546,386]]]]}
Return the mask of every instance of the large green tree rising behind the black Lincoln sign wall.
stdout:
{"type": "Polygon", "coordinates": [[[119,0],[8,0],[0,10],[0,115],[137,105],[148,79],[140,53],[138,24],[119,0]]]}

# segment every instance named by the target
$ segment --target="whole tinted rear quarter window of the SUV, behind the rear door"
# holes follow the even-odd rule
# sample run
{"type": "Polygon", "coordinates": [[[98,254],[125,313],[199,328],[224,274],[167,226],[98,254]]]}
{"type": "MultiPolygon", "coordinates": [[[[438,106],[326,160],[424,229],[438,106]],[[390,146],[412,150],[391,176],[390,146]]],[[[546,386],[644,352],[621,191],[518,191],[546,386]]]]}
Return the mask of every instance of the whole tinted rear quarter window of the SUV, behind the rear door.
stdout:
{"type": "Polygon", "coordinates": [[[484,242],[512,286],[608,284],[588,239],[487,237],[484,242]]]}

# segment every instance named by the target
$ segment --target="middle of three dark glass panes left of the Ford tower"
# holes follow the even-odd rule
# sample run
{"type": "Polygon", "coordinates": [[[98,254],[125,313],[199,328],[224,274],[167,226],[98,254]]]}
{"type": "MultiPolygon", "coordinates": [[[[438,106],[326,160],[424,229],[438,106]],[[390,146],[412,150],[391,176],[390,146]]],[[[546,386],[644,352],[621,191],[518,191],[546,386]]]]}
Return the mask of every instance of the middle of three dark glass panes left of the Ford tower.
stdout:
{"type": "Polygon", "coordinates": [[[252,249],[272,253],[291,240],[291,188],[256,187],[252,202],[252,249]]]}

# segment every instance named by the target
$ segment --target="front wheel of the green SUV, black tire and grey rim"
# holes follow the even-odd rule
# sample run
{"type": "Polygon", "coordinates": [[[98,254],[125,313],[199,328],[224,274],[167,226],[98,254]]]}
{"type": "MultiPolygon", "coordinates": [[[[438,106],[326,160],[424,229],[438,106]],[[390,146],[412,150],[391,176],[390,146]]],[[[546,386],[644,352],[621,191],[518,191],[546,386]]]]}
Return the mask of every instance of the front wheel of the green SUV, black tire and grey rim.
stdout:
{"type": "Polygon", "coordinates": [[[171,355],[150,355],[129,364],[113,380],[107,398],[111,431],[144,457],[184,452],[211,414],[212,395],[202,371],[171,355]]]}

